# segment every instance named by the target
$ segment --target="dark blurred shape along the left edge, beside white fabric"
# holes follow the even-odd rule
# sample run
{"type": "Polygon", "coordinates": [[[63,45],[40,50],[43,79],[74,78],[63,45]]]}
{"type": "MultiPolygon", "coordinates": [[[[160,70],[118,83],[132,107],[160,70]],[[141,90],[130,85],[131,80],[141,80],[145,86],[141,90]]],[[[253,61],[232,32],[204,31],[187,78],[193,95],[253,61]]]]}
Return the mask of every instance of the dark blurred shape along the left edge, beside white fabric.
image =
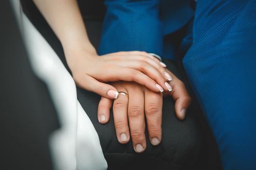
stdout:
{"type": "Polygon", "coordinates": [[[9,1],[0,1],[0,170],[52,170],[59,127],[46,85],[32,72],[9,1]]]}

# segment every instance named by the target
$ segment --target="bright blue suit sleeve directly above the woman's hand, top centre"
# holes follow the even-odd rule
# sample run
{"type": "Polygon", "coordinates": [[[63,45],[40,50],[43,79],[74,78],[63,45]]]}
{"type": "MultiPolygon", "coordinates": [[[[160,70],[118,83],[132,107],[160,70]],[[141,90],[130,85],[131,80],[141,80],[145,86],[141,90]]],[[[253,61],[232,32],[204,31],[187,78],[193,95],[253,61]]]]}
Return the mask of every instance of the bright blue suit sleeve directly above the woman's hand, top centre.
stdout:
{"type": "Polygon", "coordinates": [[[147,51],[162,55],[159,0],[105,0],[100,55],[117,51],[147,51]]]}

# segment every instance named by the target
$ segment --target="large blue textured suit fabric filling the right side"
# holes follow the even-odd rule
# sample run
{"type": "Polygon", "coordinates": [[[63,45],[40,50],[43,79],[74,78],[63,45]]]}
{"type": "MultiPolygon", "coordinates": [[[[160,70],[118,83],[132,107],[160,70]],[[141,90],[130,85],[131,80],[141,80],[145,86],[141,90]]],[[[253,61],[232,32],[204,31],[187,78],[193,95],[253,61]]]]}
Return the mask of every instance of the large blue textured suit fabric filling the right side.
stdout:
{"type": "Polygon", "coordinates": [[[256,0],[197,0],[183,64],[224,170],[256,170],[256,0]]]}

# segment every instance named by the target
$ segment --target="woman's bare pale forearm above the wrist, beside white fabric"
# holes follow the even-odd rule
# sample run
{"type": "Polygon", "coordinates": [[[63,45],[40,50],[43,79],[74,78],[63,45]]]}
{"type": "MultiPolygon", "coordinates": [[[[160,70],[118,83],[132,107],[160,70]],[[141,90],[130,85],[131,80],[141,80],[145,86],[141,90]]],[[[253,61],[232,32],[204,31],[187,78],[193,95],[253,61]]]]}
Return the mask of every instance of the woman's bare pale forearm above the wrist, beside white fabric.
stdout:
{"type": "Polygon", "coordinates": [[[96,53],[89,41],[77,0],[33,0],[45,17],[64,51],[96,53]]]}

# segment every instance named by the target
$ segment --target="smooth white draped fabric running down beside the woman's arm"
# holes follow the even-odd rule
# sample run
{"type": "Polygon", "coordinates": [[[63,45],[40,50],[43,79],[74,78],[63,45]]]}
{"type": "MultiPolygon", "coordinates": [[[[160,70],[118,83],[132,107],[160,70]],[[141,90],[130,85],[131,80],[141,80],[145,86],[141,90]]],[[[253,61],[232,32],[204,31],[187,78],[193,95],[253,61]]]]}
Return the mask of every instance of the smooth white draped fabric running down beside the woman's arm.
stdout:
{"type": "MultiPolygon", "coordinates": [[[[20,0],[10,0],[34,73],[48,87],[60,128],[49,138],[55,170],[106,170],[98,134],[77,100],[76,85],[59,57],[30,20],[20,0]]],[[[15,62],[15,61],[14,61],[15,62]]]]}

